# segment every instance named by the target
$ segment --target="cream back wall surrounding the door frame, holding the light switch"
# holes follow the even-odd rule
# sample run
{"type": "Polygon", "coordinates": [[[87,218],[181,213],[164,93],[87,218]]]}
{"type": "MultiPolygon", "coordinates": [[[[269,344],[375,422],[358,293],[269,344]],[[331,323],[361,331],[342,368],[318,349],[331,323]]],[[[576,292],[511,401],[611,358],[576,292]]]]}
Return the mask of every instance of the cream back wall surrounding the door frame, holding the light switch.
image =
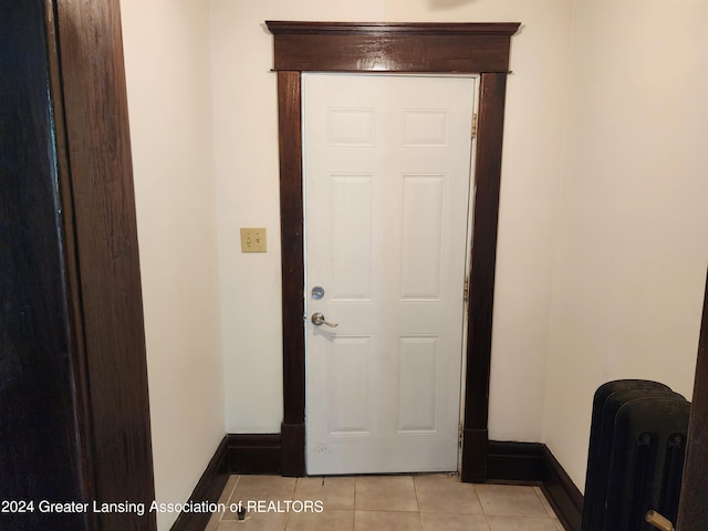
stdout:
{"type": "Polygon", "coordinates": [[[278,124],[266,20],[521,21],[508,88],[491,436],[540,440],[569,65],[566,0],[211,0],[227,430],[282,420],[278,124]],[[239,227],[270,251],[241,254],[239,227]]]}

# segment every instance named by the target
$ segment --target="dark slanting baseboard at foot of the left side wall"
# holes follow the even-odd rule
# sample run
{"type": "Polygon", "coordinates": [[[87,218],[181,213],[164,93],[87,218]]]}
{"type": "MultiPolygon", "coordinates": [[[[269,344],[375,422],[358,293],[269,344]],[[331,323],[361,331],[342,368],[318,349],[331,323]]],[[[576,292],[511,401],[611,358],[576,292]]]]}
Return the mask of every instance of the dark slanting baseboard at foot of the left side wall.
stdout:
{"type": "MultiPolygon", "coordinates": [[[[207,465],[206,470],[201,475],[197,487],[191,492],[189,501],[194,503],[210,502],[216,503],[226,487],[229,479],[229,459],[228,459],[227,437],[221,439],[217,451],[207,465]]],[[[171,531],[202,531],[211,513],[209,512],[180,512],[179,517],[170,528],[171,531]]]]}

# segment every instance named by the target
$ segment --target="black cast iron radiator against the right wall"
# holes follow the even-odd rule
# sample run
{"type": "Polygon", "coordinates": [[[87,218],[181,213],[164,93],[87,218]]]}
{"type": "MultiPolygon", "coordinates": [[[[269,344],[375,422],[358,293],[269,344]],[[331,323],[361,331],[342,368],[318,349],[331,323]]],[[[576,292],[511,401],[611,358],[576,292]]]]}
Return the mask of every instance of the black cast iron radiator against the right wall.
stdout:
{"type": "Polygon", "coordinates": [[[593,399],[582,531],[656,531],[676,522],[690,403],[643,379],[602,385],[593,399]]]}

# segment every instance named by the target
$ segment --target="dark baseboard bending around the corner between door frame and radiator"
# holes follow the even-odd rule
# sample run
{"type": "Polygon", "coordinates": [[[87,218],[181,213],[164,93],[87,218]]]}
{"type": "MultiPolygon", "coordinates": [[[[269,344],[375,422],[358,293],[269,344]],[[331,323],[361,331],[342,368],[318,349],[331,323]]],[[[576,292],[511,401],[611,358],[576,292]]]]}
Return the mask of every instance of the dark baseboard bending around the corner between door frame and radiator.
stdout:
{"type": "Polygon", "coordinates": [[[581,531],[583,494],[551,450],[540,442],[489,441],[487,480],[541,486],[566,531],[581,531]]]}

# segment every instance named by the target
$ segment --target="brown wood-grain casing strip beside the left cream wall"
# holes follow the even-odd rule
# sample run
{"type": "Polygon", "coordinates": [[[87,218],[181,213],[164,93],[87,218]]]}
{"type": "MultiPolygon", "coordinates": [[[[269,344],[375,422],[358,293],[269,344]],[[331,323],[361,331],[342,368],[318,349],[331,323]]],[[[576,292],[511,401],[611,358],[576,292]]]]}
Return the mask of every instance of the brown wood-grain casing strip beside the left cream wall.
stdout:
{"type": "MultiPolygon", "coordinates": [[[[76,418],[97,501],[155,498],[143,301],[119,2],[45,0],[76,344],[76,418]]],[[[101,516],[156,529],[155,514],[101,516]]]]}

